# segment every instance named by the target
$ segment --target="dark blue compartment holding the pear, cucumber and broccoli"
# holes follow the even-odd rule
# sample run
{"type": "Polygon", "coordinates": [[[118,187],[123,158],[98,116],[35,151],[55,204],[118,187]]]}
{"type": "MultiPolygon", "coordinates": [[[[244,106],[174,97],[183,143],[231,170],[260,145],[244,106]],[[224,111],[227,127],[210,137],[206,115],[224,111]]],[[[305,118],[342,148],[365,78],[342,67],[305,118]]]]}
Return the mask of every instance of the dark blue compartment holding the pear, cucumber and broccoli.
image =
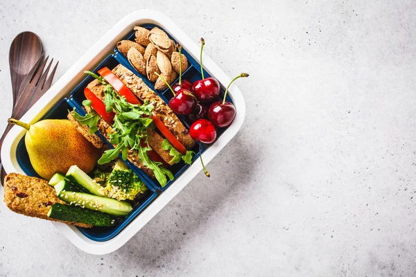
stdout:
{"type": "MultiPolygon", "coordinates": [[[[73,105],[73,102],[69,100],[68,98],[63,98],[56,104],[51,110],[46,113],[42,119],[64,119],[67,118],[68,110],[71,110],[73,108],[76,108],[76,111],[78,113],[80,110],[76,107],[76,105],[73,105]]],[[[26,173],[28,176],[32,177],[38,177],[39,175],[35,172],[33,169],[33,166],[31,165],[31,161],[28,157],[28,152],[26,150],[26,144],[24,142],[24,137],[21,138],[17,145],[16,150],[16,157],[17,162],[19,163],[19,166],[22,170],[26,173]]],[[[132,168],[132,170],[137,174],[135,168],[132,168]]],[[[135,206],[133,211],[125,217],[121,223],[118,226],[114,227],[94,227],[94,228],[81,228],[77,227],[78,230],[80,230],[81,233],[83,233],[87,238],[91,240],[95,240],[97,242],[103,242],[105,240],[110,240],[114,238],[118,233],[120,233],[125,226],[127,226],[132,220],[135,219],[135,217],[150,204],[150,202],[153,201],[153,199],[156,198],[157,193],[155,188],[153,186],[150,186],[146,181],[144,181],[146,186],[148,187],[148,192],[145,193],[139,200],[139,204],[135,206]]]]}

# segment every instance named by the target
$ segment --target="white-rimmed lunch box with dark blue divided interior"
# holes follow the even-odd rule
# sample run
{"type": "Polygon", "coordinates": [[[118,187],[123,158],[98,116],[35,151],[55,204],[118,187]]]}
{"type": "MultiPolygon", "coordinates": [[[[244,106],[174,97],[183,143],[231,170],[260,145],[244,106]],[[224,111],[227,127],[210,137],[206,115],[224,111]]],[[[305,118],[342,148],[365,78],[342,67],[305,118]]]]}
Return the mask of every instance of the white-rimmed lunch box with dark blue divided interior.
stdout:
{"type": "MultiPolygon", "coordinates": [[[[190,39],[178,28],[171,19],[168,19],[160,12],[153,10],[139,10],[127,15],[111,28],[92,48],[80,57],[62,78],[60,78],[44,96],[38,100],[31,109],[21,118],[22,121],[35,123],[44,118],[66,118],[68,110],[76,109],[79,114],[84,114],[82,101],[85,100],[83,90],[92,77],[83,73],[85,70],[96,72],[103,66],[113,69],[116,64],[122,64],[138,75],[144,82],[154,90],[153,84],[146,76],[141,75],[130,65],[127,58],[115,47],[122,39],[134,40],[135,26],[143,26],[151,29],[158,26],[164,30],[175,42],[182,45],[182,53],[187,56],[189,69],[184,71],[182,78],[191,82],[200,79],[199,53],[200,44],[190,39]]],[[[204,53],[205,77],[212,76],[221,84],[221,95],[225,91],[225,84],[230,78],[204,53]]],[[[175,80],[177,82],[177,80],[175,80]]],[[[168,89],[156,91],[159,96],[168,102],[172,93],[168,89]]],[[[241,128],[245,116],[245,104],[241,91],[236,85],[232,85],[227,95],[227,100],[233,102],[236,107],[236,118],[226,128],[217,129],[217,139],[211,145],[200,145],[202,157],[205,163],[211,159],[235,136],[241,128]]],[[[185,127],[189,128],[191,123],[184,117],[178,116],[185,127]]],[[[24,145],[24,134],[26,130],[21,127],[12,127],[6,136],[3,148],[1,149],[1,161],[6,172],[19,172],[29,176],[37,177],[28,159],[26,146],[24,145]]],[[[101,136],[101,134],[98,133],[101,136]]],[[[103,136],[101,136],[102,139],[103,136]]],[[[105,139],[104,139],[105,141],[105,139]]],[[[107,141],[106,141],[107,142],[107,141]]],[[[110,145],[110,144],[109,144],[110,145]]],[[[169,168],[175,179],[169,181],[163,188],[153,181],[139,168],[126,161],[128,166],[144,181],[148,192],[140,197],[139,204],[135,206],[130,215],[115,227],[83,229],[76,226],[69,226],[60,222],[52,222],[76,247],[93,254],[105,254],[119,249],[125,242],[130,240],[152,217],[162,210],[177,193],[186,186],[198,172],[202,170],[199,159],[199,144],[193,149],[196,152],[191,166],[183,162],[169,168]]]]}

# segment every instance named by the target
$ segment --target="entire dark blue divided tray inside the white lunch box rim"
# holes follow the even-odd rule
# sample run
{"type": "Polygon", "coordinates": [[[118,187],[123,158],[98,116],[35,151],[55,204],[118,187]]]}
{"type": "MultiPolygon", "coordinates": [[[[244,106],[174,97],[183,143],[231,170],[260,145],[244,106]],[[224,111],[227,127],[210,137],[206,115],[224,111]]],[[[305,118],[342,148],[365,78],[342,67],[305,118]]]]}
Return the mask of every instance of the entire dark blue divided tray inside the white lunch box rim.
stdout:
{"type": "MultiPolygon", "coordinates": [[[[149,30],[153,27],[155,27],[156,25],[154,24],[144,24],[142,25],[142,27],[144,28],[148,28],[149,30]]],[[[158,28],[161,28],[159,26],[157,26],[158,28]]],[[[163,30],[163,28],[161,28],[163,30]]],[[[169,35],[169,37],[171,37],[169,35]]],[[[171,39],[173,39],[171,37],[171,39]]],[[[131,40],[134,41],[135,40],[135,31],[132,30],[132,32],[130,32],[126,37],[123,38],[123,40],[131,40]]],[[[175,41],[175,39],[173,39],[175,41]]],[[[200,80],[201,79],[201,74],[200,74],[200,65],[198,64],[198,62],[193,59],[193,57],[191,55],[189,55],[189,53],[187,53],[187,51],[185,51],[182,48],[182,53],[187,57],[188,59],[188,64],[189,64],[189,68],[184,71],[184,73],[182,73],[182,78],[189,80],[191,82],[195,82],[196,80],[200,80]]],[[[94,69],[94,73],[97,73],[97,71],[101,68],[103,68],[104,66],[107,66],[109,69],[114,69],[114,67],[117,64],[122,64],[123,66],[125,66],[126,68],[128,68],[130,71],[132,71],[133,73],[135,73],[135,75],[139,76],[144,83],[153,91],[155,91],[160,98],[162,98],[162,100],[164,100],[166,103],[168,103],[168,100],[170,100],[173,95],[171,93],[171,91],[169,89],[166,89],[164,91],[157,91],[155,90],[155,87],[153,85],[153,83],[151,83],[146,76],[141,75],[138,71],[135,70],[134,67],[131,66],[130,62],[128,62],[127,58],[121,53],[119,52],[119,50],[116,48],[116,46],[114,47],[114,54],[108,55],[107,57],[105,57],[105,59],[98,64],[98,66],[96,66],[96,68],[94,69]]],[[[204,75],[205,77],[210,77],[209,73],[207,73],[207,71],[204,70],[204,75]]],[[[71,93],[69,94],[69,98],[64,98],[62,100],[60,100],[60,102],[58,102],[57,105],[55,105],[42,119],[45,118],[67,118],[67,110],[68,109],[73,109],[75,108],[76,111],[78,112],[78,114],[81,115],[85,115],[85,111],[83,109],[83,105],[82,102],[83,100],[85,100],[85,96],[84,96],[84,89],[85,87],[87,87],[87,84],[89,84],[89,82],[92,82],[92,80],[94,80],[94,78],[92,78],[91,76],[87,75],[86,78],[80,82],[80,84],[78,84],[78,86],[73,89],[71,91],[71,93]]],[[[177,78],[173,83],[178,82],[179,78],[177,78]]],[[[224,96],[224,92],[225,92],[225,88],[221,87],[221,92],[220,92],[220,96],[218,97],[219,99],[222,99],[224,96]]],[[[232,102],[232,99],[227,96],[227,101],[232,102]]],[[[180,116],[177,115],[177,117],[181,120],[181,122],[184,124],[185,127],[187,127],[189,129],[189,127],[191,126],[191,122],[189,122],[189,120],[187,120],[187,118],[185,116],[180,116]]],[[[225,131],[225,129],[227,128],[217,128],[217,139],[218,137],[221,136],[221,134],[223,134],[223,132],[225,131]]],[[[98,136],[101,137],[101,139],[103,139],[103,141],[105,141],[105,143],[107,143],[107,145],[110,146],[110,148],[112,148],[112,145],[110,143],[108,143],[108,141],[105,139],[105,137],[100,133],[100,132],[96,132],[96,134],[98,134],[98,136]]],[[[195,148],[193,148],[193,152],[196,153],[196,155],[193,157],[192,162],[199,162],[197,161],[199,159],[199,145],[200,143],[196,143],[195,148]]],[[[205,152],[205,150],[207,150],[209,148],[209,145],[204,145],[201,144],[201,152],[205,152]]],[[[121,155],[119,155],[119,157],[121,157],[121,155]]],[[[33,167],[31,166],[31,163],[28,159],[28,154],[26,151],[26,145],[24,144],[24,138],[21,139],[21,141],[19,141],[19,144],[17,145],[17,161],[19,163],[19,166],[21,166],[21,168],[24,170],[24,172],[26,172],[27,175],[29,176],[33,176],[33,177],[39,177],[37,175],[37,173],[35,172],[35,170],[33,170],[33,167]]],[[[130,163],[129,161],[125,161],[125,163],[129,166],[129,168],[131,168],[137,175],[139,175],[139,177],[141,178],[142,181],[144,181],[144,183],[146,184],[146,186],[149,188],[148,192],[149,195],[146,195],[146,197],[144,198],[144,201],[141,202],[141,204],[139,206],[136,206],[135,209],[132,211],[132,213],[130,213],[130,215],[128,215],[127,217],[125,217],[125,219],[121,222],[121,224],[119,224],[119,226],[114,226],[114,227],[94,227],[92,229],[84,229],[84,228],[80,228],[77,227],[81,233],[83,233],[87,238],[97,241],[97,242],[103,242],[106,240],[110,240],[112,238],[114,238],[118,233],[120,233],[123,228],[125,228],[125,226],[127,226],[128,224],[130,224],[130,222],[132,222],[132,220],[135,219],[135,217],[137,217],[137,215],[144,210],[144,208],[146,208],[146,206],[148,206],[148,204],[150,204],[150,202],[153,201],[153,199],[155,199],[157,197],[157,190],[160,191],[160,193],[162,193],[164,190],[166,190],[169,186],[171,186],[171,184],[173,184],[173,182],[180,177],[180,175],[182,175],[182,173],[187,170],[187,168],[189,168],[189,165],[185,164],[184,162],[180,162],[177,163],[174,166],[171,166],[170,168],[168,168],[169,170],[171,170],[173,172],[174,175],[174,179],[172,181],[168,181],[168,183],[166,184],[166,186],[164,186],[164,188],[162,188],[159,184],[157,184],[157,182],[153,181],[153,179],[150,179],[142,170],[140,170],[139,168],[137,168],[136,166],[132,165],[132,163],[130,163]]]]}

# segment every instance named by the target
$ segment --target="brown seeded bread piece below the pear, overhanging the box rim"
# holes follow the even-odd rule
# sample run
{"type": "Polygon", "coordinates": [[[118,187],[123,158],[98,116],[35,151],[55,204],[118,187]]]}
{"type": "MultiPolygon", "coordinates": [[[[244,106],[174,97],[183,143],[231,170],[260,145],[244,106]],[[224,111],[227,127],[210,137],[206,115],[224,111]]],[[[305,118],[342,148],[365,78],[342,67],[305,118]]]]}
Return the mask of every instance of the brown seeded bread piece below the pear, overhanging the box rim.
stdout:
{"type": "Polygon", "coordinates": [[[84,228],[93,227],[89,224],[55,220],[48,217],[48,212],[53,204],[66,203],[56,196],[55,189],[49,186],[48,181],[44,179],[10,173],[4,178],[3,186],[3,201],[15,213],[41,218],[43,220],[64,222],[84,228]]]}

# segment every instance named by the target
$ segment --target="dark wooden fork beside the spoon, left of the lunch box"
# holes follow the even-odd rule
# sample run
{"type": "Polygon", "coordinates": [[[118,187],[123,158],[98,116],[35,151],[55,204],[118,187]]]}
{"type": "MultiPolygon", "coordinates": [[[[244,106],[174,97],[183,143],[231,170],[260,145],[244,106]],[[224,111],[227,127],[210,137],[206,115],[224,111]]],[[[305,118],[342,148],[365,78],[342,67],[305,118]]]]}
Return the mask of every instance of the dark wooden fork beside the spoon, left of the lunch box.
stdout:
{"type": "MultiPolygon", "coordinates": [[[[28,111],[28,109],[30,109],[33,106],[33,104],[35,104],[35,102],[39,100],[39,98],[43,96],[44,93],[51,87],[53,76],[55,75],[56,68],[58,67],[59,62],[55,64],[55,67],[53,68],[51,75],[49,75],[49,78],[46,80],[49,69],[51,69],[53,63],[52,59],[51,62],[49,62],[49,65],[46,67],[46,70],[44,71],[48,59],[49,56],[46,57],[46,59],[44,59],[44,55],[42,55],[40,59],[36,62],[35,66],[33,66],[33,69],[31,69],[31,72],[21,82],[19,94],[17,96],[15,106],[12,109],[12,118],[20,119],[21,116],[26,114],[26,111],[28,111]]],[[[3,133],[3,136],[1,136],[0,149],[3,145],[3,140],[6,137],[6,134],[8,134],[11,128],[12,124],[8,124],[6,130],[3,133]]],[[[3,183],[3,179],[5,176],[6,172],[3,168],[1,168],[1,183],[3,183]]]]}

